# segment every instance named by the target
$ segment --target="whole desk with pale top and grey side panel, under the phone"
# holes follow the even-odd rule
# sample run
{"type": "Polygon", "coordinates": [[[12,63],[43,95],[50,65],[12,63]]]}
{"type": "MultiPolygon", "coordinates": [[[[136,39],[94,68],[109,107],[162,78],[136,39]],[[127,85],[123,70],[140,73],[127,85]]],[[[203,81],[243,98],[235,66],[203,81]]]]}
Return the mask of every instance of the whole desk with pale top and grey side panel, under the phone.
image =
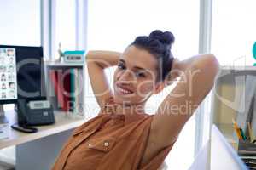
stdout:
{"type": "MultiPolygon", "coordinates": [[[[16,121],[15,111],[7,111],[9,125],[16,121]]],[[[63,144],[75,127],[87,120],[68,118],[55,111],[55,124],[38,126],[38,133],[21,133],[10,129],[9,139],[0,139],[0,149],[16,145],[16,170],[46,170],[55,162],[63,144]]]]}

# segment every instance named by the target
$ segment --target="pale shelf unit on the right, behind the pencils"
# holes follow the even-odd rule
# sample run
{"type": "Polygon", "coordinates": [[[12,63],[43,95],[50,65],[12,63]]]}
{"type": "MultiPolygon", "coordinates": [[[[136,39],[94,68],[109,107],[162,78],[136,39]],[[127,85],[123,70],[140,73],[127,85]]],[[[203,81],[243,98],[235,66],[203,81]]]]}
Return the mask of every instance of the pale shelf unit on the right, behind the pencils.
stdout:
{"type": "Polygon", "coordinates": [[[256,66],[222,66],[212,93],[212,123],[235,150],[239,139],[233,128],[246,90],[247,76],[256,76],[256,66]]]}

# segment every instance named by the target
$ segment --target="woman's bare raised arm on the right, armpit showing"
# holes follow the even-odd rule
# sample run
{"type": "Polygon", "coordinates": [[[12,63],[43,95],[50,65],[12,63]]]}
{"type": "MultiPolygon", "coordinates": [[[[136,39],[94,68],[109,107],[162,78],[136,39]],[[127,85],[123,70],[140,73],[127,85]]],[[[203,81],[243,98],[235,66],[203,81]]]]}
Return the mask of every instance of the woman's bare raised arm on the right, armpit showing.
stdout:
{"type": "Polygon", "coordinates": [[[218,67],[218,60],[212,54],[202,54],[183,61],[176,59],[172,69],[177,69],[174,75],[180,76],[180,80],[154,115],[141,165],[176,141],[185,122],[212,89],[218,67]]]}

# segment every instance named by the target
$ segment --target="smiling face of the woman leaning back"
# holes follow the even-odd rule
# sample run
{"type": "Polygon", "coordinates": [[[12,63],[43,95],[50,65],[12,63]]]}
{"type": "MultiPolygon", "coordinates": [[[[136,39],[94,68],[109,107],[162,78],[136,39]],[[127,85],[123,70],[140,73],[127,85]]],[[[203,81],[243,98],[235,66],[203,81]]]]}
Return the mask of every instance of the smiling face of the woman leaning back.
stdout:
{"type": "Polygon", "coordinates": [[[159,88],[157,59],[148,51],[129,46],[114,71],[114,101],[124,105],[145,102],[159,88]]]}

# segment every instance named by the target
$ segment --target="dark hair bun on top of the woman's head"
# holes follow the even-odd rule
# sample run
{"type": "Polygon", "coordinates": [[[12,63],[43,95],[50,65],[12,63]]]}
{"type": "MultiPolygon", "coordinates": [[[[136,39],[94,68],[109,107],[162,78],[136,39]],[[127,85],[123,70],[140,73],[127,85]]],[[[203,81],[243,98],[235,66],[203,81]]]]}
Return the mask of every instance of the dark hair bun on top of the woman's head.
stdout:
{"type": "Polygon", "coordinates": [[[173,36],[172,32],[170,32],[170,31],[163,32],[160,30],[152,31],[149,34],[149,38],[157,39],[160,42],[165,43],[166,45],[170,45],[170,46],[172,45],[172,43],[175,40],[175,37],[173,36]]]}

